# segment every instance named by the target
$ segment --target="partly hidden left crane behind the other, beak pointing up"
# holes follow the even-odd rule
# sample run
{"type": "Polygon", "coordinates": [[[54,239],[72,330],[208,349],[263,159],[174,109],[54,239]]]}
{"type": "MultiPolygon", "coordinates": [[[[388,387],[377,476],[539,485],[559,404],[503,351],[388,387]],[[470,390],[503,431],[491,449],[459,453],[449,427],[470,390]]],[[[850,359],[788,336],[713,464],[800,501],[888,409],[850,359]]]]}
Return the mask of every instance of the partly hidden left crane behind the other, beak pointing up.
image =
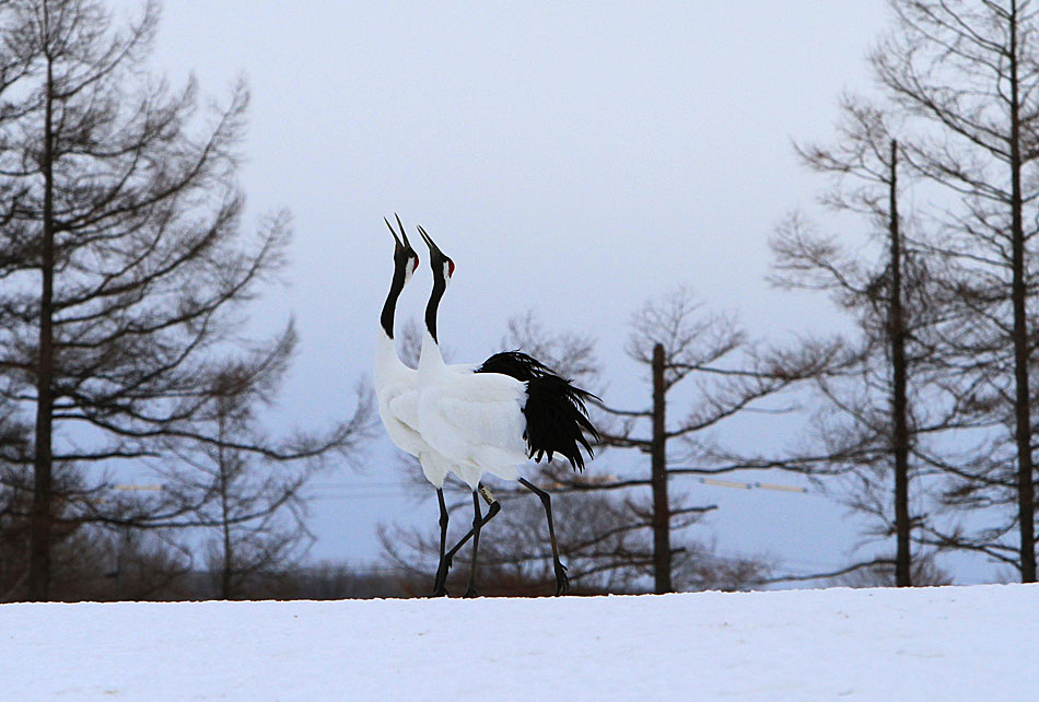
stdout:
{"type": "MultiPolygon", "coordinates": [[[[394,346],[394,315],[397,309],[397,299],[412,273],[419,267],[419,256],[411,248],[404,224],[397,217],[400,236],[394,231],[389,220],[385,220],[389,233],[394,236],[394,277],[389,285],[389,294],[383,305],[380,316],[380,332],[375,346],[375,396],[378,399],[378,413],[389,438],[404,452],[411,454],[422,465],[425,479],[436,488],[436,498],[440,502],[440,563],[436,568],[436,578],[433,583],[433,595],[446,595],[444,581],[447,576],[444,550],[447,540],[447,506],[444,503],[444,478],[451,470],[448,461],[430,448],[429,444],[418,432],[416,416],[416,383],[418,374],[415,368],[405,365],[397,356],[394,346]]],[[[469,371],[471,372],[471,370],[469,371]]]]}

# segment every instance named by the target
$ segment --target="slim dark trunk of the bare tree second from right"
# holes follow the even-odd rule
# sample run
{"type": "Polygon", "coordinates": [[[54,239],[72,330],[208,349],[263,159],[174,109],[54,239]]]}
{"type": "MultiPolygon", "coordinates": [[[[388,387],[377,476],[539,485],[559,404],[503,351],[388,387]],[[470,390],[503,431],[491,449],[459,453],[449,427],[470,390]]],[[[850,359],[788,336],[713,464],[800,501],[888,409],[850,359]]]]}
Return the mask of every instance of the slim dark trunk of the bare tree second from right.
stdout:
{"type": "Polygon", "coordinates": [[[906,386],[906,318],[902,311],[902,251],[898,230],[898,142],[891,141],[890,183],[891,301],[888,338],[891,343],[891,414],[895,454],[895,584],[912,585],[909,515],[909,418],[906,386]]]}

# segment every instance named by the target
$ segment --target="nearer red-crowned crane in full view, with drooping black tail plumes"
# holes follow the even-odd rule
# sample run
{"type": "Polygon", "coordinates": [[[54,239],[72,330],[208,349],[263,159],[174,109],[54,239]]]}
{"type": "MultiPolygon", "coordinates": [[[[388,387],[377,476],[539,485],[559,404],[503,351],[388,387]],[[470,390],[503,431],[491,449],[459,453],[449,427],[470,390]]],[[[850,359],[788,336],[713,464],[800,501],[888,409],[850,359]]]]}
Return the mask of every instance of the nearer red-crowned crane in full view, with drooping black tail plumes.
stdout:
{"type": "MultiPolygon", "coordinates": [[[[551,460],[558,453],[574,470],[583,470],[581,447],[592,456],[584,434],[598,440],[584,406],[594,396],[518,351],[491,356],[476,373],[457,373],[446,365],[436,337],[436,313],[455,264],[421,226],[419,234],[430,249],[433,290],[425,308],[425,334],[419,358],[418,426],[423,441],[447,458],[453,464],[452,471],[472,490],[472,561],[466,596],[476,595],[480,528],[493,516],[488,514],[483,518],[480,514],[480,481],[485,473],[517,480],[541,500],[552,545],[556,594],[565,594],[569,581],[559,560],[551,499],[520,477],[517,466],[530,458],[539,461],[546,455],[551,460]]],[[[448,568],[451,557],[466,538],[447,554],[448,568]]]]}

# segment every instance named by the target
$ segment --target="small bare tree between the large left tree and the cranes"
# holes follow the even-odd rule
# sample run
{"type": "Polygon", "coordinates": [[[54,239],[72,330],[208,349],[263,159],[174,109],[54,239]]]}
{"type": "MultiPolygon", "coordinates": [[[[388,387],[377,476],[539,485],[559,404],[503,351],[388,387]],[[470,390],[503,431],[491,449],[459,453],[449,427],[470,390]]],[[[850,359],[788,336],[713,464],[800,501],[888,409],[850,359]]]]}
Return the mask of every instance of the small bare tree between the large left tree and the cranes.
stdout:
{"type": "Polygon", "coordinates": [[[208,434],[215,442],[172,443],[178,460],[159,469],[163,495],[143,515],[155,524],[162,513],[178,515],[189,507],[189,515],[172,517],[170,526],[214,533],[207,539],[208,563],[221,599],[240,596],[247,585],[256,595],[258,580],[277,580],[299,564],[313,540],[301,491],[331,453],[349,460],[371,433],[373,412],[364,393],[352,421],[324,435],[297,431],[279,437],[262,429],[259,410],[275,400],[295,343],[290,325],[268,348],[208,372],[209,402],[196,419],[212,424],[208,434]]]}

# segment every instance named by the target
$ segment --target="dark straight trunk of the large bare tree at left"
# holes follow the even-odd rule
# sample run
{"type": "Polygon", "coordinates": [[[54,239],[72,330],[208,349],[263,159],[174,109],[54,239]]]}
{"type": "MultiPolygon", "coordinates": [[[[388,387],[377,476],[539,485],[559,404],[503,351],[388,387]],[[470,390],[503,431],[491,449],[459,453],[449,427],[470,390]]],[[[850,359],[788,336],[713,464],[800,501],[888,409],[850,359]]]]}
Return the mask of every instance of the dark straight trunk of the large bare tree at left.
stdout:
{"type": "Polygon", "coordinates": [[[52,428],[54,428],[54,78],[47,63],[44,149],[44,217],[40,235],[42,272],[39,350],[36,361],[36,426],[33,473],[33,506],[30,525],[28,598],[50,597],[50,547],[54,531],[52,428]]]}

